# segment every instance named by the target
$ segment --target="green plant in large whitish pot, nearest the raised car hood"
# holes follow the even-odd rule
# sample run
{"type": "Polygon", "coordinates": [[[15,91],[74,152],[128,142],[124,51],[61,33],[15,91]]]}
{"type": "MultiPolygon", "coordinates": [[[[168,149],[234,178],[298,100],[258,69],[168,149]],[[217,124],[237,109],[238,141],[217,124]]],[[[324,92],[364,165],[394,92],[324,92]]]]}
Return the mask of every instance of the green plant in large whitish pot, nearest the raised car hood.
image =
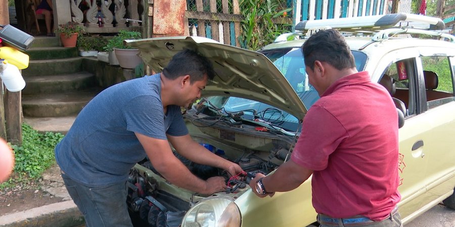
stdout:
{"type": "MultiPolygon", "coordinates": [[[[106,51],[114,51],[115,57],[117,58],[120,67],[125,69],[133,69],[142,63],[141,58],[138,56],[139,50],[125,46],[123,44],[123,40],[140,38],[140,32],[119,30],[119,33],[116,36],[108,40],[104,49],[106,51]]],[[[111,63],[111,53],[109,54],[109,58],[109,63],[111,63]]]]}

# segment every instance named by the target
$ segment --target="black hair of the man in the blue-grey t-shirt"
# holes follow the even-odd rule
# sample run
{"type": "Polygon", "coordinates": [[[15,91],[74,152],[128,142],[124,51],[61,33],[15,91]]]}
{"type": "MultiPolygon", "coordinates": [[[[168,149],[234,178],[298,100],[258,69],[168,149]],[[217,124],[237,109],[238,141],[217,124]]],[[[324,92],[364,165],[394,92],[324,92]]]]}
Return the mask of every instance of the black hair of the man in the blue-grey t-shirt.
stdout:
{"type": "Polygon", "coordinates": [[[163,74],[171,80],[190,75],[190,83],[204,80],[205,75],[208,80],[213,80],[215,77],[212,63],[205,56],[190,49],[176,53],[163,69],[163,74]]]}

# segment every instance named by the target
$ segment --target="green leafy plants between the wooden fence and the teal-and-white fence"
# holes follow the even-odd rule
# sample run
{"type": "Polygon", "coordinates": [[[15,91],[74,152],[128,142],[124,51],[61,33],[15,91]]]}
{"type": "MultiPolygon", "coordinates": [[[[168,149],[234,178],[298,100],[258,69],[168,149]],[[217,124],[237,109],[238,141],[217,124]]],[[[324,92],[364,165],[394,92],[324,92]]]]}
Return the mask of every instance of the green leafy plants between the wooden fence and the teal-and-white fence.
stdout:
{"type": "Polygon", "coordinates": [[[245,17],[241,22],[242,34],[239,37],[243,48],[257,50],[291,28],[290,24],[275,24],[272,21],[286,17],[292,11],[292,8],[286,8],[286,1],[245,0],[240,2],[240,10],[245,17]]]}

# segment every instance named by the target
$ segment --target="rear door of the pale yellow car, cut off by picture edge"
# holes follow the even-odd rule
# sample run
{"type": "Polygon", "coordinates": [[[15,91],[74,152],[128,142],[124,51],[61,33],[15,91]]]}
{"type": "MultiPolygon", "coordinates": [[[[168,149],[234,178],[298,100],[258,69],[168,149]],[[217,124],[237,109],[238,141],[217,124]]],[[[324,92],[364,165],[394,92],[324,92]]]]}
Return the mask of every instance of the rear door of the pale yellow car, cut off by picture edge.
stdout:
{"type": "Polygon", "coordinates": [[[453,65],[455,49],[422,49],[418,65],[422,71],[425,90],[423,99],[426,105],[422,114],[430,123],[430,137],[423,141],[425,158],[428,161],[426,173],[427,207],[419,213],[436,205],[453,192],[455,187],[455,96],[453,65]],[[420,68],[420,66],[419,66],[420,68]]]}

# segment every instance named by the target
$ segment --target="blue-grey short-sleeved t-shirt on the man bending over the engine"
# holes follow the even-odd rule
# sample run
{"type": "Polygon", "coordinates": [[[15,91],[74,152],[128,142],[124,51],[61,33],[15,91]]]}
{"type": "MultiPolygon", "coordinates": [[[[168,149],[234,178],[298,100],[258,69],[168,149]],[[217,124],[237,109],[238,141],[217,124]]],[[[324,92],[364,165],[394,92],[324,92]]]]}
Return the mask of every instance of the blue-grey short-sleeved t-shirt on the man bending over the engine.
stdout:
{"type": "Polygon", "coordinates": [[[162,140],[188,134],[179,106],[168,106],[164,115],[159,74],[116,84],[92,99],[57,144],[57,163],[86,186],[125,181],[146,157],[135,132],[162,140]]]}

